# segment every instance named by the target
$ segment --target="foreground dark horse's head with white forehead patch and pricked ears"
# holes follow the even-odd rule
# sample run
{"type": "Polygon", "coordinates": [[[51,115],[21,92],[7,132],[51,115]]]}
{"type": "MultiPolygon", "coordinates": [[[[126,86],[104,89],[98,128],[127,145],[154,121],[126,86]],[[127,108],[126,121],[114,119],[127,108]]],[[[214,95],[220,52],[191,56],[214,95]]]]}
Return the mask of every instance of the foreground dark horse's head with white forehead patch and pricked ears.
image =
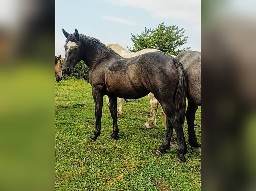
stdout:
{"type": "Polygon", "coordinates": [[[64,36],[67,38],[65,42],[65,59],[63,62],[63,71],[66,74],[71,74],[73,68],[82,60],[82,46],[80,42],[80,35],[78,30],[75,30],[74,34],[67,33],[62,29],[64,36]]]}

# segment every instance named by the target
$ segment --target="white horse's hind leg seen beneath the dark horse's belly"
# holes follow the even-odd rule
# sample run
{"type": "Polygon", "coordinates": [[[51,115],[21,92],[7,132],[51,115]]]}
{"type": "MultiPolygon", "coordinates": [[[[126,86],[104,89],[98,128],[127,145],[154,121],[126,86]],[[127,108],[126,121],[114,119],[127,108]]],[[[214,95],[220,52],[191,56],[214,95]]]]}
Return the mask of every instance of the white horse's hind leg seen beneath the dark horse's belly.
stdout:
{"type": "Polygon", "coordinates": [[[142,126],[144,129],[150,129],[155,126],[155,116],[159,105],[159,102],[152,93],[148,94],[148,98],[150,100],[151,111],[148,121],[142,126]]]}

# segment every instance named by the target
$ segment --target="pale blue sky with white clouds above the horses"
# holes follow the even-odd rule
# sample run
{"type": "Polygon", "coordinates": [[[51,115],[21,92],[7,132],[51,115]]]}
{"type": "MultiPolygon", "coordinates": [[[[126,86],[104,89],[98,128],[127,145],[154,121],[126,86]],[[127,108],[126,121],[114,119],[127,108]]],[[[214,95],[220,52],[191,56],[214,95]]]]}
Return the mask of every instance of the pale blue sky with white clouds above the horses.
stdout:
{"type": "Polygon", "coordinates": [[[184,47],[201,51],[200,0],[55,0],[55,55],[65,57],[62,28],[127,49],[132,47],[131,33],[157,28],[162,22],[184,28],[189,37],[184,47]]]}

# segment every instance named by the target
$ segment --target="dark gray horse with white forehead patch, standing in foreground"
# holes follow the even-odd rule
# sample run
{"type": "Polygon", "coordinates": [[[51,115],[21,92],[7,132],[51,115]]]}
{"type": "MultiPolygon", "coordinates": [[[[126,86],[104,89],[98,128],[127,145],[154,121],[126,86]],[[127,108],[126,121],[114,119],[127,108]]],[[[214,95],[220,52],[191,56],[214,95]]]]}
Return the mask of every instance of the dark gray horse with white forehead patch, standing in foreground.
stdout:
{"type": "Polygon", "coordinates": [[[187,78],[183,66],[163,52],[145,53],[124,59],[98,39],[79,34],[67,33],[63,71],[71,74],[78,62],[83,60],[89,68],[89,82],[95,103],[96,126],[91,141],[101,133],[103,96],[108,95],[110,113],[113,119],[113,139],[118,138],[117,97],[137,99],[150,92],[161,104],[167,116],[167,128],[162,145],[156,154],[166,153],[170,148],[173,128],[177,134],[177,162],[184,162],[187,147],[182,124],[185,117],[185,95],[187,78]]]}

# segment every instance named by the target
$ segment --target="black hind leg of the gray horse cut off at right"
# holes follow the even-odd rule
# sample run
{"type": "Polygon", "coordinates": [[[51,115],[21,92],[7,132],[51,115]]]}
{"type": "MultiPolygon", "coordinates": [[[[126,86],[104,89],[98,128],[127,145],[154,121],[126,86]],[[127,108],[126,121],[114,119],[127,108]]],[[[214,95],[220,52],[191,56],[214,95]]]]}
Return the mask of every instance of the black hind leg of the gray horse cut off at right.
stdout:
{"type": "Polygon", "coordinates": [[[187,131],[188,131],[188,144],[191,146],[191,149],[196,152],[201,152],[201,147],[197,142],[197,136],[194,128],[194,121],[198,105],[188,101],[187,110],[186,110],[186,119],[187,119],[187,131]]]}

